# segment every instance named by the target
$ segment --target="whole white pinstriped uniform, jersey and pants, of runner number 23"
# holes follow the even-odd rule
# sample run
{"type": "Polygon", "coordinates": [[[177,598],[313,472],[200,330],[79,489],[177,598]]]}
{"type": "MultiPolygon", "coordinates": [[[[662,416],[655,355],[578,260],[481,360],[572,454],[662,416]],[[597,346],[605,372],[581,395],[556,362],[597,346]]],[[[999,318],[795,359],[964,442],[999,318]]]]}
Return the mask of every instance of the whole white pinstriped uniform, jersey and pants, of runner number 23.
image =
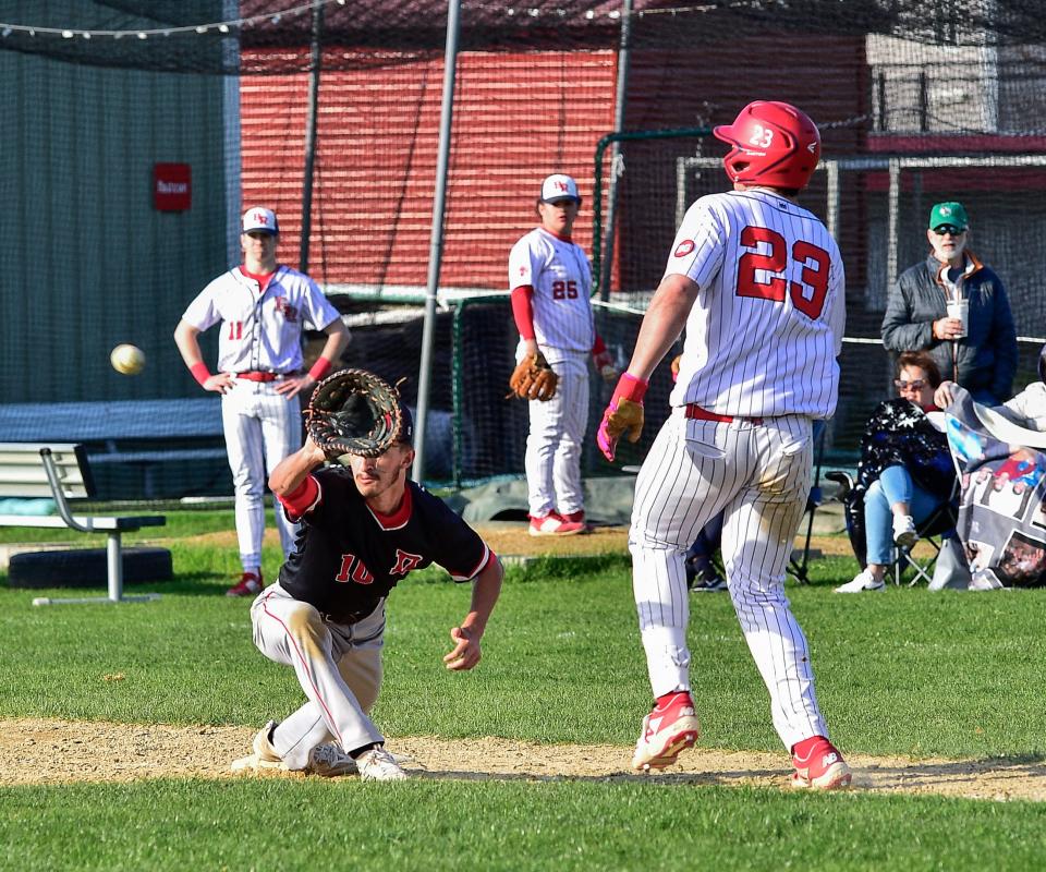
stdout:
{"type": "Polygon", "coordinates": [[[635,483],[633,592],[655,697],[690,689],[683,555],[722,513],[733,607],[786,748],[828,728],[784,569],[811,484],[812,417],[836,407],[844,320],[839,249],[811,213],[768,191],[698,199],[667,274],[700,293],[671,402],[635,483]],[[688,416],[696,403],[731,421],[688,416]]]}

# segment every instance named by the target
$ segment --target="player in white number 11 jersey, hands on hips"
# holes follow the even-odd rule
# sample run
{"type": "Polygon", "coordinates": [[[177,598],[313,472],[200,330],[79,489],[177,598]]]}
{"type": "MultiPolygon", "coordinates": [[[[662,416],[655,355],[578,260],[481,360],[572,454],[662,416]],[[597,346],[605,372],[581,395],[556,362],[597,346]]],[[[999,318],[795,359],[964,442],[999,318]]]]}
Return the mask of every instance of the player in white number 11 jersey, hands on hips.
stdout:
{"type": "MultiPolygon", "coordinates": [[[[243,216],[243,265],[211,281],[190,303],[174,330],[182,360],[204,390],[222,395],[221,419],[235,491],[236,537],[243,574],[230,596],[258,593],[265,532],[265,473],[302,445],[299,393],[323,378],[341,356],[349,332],[338,311],[308,276],[277,265],[279,227],[270,209],[243,216]],[[198,334],[221,322],[218,373],[199,351],[198,334]],[[308,322],[327,334],[319,359],[302,370],[302,330],[308,322]]],[[[295,526],[276,511],[284,557],[295,526]]]]}

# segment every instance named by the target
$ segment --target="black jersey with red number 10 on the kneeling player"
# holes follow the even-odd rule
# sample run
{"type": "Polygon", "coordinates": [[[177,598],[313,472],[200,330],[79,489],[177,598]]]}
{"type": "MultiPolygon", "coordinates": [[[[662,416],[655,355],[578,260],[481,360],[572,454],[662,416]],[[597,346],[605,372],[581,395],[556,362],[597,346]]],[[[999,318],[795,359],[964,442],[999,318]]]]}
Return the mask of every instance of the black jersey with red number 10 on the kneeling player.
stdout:
{"type": "Polygon", "coordinates": [[[301,518],[280,586],[335,621],[369,615],[412,569],[439,564],[454,581],[469,581],[490,559],[478,534],[414,482],[400,508],[382,516],[364,501],[351,470],[325,467],[313,479],[319,495],[301,518]]]}

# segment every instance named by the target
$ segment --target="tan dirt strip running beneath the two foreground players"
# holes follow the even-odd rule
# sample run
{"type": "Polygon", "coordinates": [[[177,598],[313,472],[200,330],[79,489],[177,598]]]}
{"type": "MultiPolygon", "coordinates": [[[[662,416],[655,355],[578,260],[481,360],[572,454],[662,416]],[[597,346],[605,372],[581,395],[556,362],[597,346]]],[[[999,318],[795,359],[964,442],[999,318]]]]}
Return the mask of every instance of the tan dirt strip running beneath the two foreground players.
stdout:
{"type": "MultiPolygon", "coordinates": [[[[97,722],[0,719],[0,786],[134,782],[148,778],[243,778],[229,764],[250,753],[255,730],[97,722]]],[[[412,775],[428,778],[645,779],[692,785],[788,788],[782,753],[695,748],[657,775],[629,770],[631,748],[610,744],[538,746],[483,738],[448,741],[390,738],[412,775]]],[[[850,758],[853,786],[877,794],[927,794],[974,799],[1046,800],[1046,764],[1000,760],[850,758]]],[[[271,777],[271,776],[270,776],[271,777]]],[[[302,778],[296,774],[276,777],[302,778]]]]}

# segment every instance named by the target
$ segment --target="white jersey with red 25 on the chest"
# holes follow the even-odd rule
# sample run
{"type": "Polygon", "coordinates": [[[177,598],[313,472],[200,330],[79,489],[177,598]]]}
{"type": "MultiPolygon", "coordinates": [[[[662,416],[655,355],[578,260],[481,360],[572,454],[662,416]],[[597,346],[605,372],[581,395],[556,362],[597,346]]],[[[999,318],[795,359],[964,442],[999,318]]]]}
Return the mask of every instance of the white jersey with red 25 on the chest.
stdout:
{"type": "Polygon", "coordinates": [[[544,228],[534,228],[509,254],[509,289],[534,289],[534,338],[543,349],[592,351],[592,267],[584,250],[544,228]]]}

